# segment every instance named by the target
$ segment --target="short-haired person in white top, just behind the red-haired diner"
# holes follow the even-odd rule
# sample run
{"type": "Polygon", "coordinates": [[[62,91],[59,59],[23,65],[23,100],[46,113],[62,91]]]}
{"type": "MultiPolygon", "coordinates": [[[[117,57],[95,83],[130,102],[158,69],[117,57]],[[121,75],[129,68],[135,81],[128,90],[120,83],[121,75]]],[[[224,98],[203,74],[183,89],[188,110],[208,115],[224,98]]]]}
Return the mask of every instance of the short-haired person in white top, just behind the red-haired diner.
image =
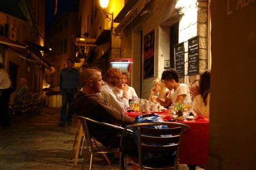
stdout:
{"type": "MultiPolygon", "coordinates": [[[[114,93],[122,100],[124,90],[122,90],[122,85],[127,84],[128,79],[130,78],[130,73],[126,70],[121,70],[122,73],[122,82],[113,88],[114,93]]],[[[137,96],[134,87],[129,86],[127,90],[127,97],[129,100],[134,100],[134,97],[137,96]]]]}

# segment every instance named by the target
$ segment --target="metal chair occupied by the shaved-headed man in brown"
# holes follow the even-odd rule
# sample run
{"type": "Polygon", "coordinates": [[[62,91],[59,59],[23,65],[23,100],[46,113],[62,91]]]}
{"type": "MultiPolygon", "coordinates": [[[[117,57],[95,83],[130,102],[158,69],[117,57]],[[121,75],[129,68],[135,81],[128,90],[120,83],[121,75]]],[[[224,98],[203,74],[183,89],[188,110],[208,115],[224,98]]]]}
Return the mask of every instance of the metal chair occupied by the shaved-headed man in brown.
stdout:
{"type": "Polygon", "coordinates": [[[86,143],[87,148],[86,148],[85,158],[83,159],[82,169],[85,169],[86,158],[87,158],[87,154],[89,151],[91,152],[90,168],[89,168],[90,170],[92,169],[92,161],[93,161],[94,154],[102,154],[105,157],[105,159],[107,160],[107,162],[109,163],[109,161],[108,161],[109,158],[107,158],[106,154],[119,152],[119,148],[109,149],[109,148],[104,147],[103,145],[97,145],[98,142],[96,140],[94,140],[93,135],[90,133],[90,129],[87,126],[87,122],[93,122],[93,123],[97,123],[102,126],[116,128],[121,131],[123,131],[124,128],[115,126],[115,125],[111,125],[111,124],[105,123],[105,122],[95,121],[95,120],[89,119],[87,117],[79,116],[79,115],[77,115],[77,117],[78,117],[78,119],[80,119],[80,121],[82,123],[83,132],[85,135],[85,142],[87,142],[86,143]],[[95,141],[96,145],[93,145],[92,140],[95,141]]]}

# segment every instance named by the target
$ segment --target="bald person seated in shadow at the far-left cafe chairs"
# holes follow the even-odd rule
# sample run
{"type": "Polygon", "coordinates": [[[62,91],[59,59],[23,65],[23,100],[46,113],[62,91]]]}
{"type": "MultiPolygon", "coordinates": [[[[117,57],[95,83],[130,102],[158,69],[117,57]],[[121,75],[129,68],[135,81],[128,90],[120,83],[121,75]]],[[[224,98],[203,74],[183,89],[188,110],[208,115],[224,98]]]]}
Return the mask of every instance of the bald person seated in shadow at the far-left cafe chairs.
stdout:
{"type": "Polygon", "coordinates": [[[22,97],[28,95],[29,92],[30,89],[27,86],[27,79],[19,79],[19,88],[13,92],[13,94],[17,94],[16,99],[14,100],[15,105],[22,105],[22,97]]]}

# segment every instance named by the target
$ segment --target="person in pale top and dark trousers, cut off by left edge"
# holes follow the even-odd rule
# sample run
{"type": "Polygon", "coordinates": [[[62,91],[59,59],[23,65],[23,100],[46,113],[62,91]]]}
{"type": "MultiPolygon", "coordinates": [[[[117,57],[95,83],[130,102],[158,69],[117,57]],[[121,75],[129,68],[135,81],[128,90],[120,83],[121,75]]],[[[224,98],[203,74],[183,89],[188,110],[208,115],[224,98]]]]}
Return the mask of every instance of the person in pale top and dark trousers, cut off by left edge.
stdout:
{"type": "Polygon", "coordinates": [[[11,95],[11,80],[10,76],[3,69],[3,64],[0,63],[0,128],[11,127],[9,117],[9,99],[11,95]]]}

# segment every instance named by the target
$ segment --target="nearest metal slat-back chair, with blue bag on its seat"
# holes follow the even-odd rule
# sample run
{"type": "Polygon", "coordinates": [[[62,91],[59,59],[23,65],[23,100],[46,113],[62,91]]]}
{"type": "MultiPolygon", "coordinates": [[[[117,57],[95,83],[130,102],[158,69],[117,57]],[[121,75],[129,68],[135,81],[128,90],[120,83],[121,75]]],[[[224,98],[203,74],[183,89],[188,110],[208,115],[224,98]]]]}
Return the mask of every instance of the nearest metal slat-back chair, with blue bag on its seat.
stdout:
{"type": "MultiPolygon", "coordinates": [[[[179,150],[180,143],[184,132],[188,132],[190,127],[182,123],[174,122],[145,122],[135,123],[126,126],[122,136],[127,130],[134,130],[137,128],[137,143],[139,156],[131,156],[131,164],[139,167],[139,169],[178,169],[179,168],[179,150]],[[152,125],[167,125],[169,128],[152,128],[152,125]],[[163,136],[164,135],[164,136],[163,136]],[[152,155],[161,154],[162,157],[157,157],[157,161],[150,159],[150,161],[142,162],[142,154],[150,153],[152,155]],[[172,155],[173,153],[175,153],[172,155]],[[164,155],[164,156],[163,156],[164,155]],[[164,161],[165,160],[165,161],[164,161]]],[[[122,143],[121,136],[121,143],[122,143]]],[[[121,144],[120,144],[121,145],[121,144]]],[[[127,157],[125,153],[120,152],[120,169],[126,169],[127,157]]]]}

